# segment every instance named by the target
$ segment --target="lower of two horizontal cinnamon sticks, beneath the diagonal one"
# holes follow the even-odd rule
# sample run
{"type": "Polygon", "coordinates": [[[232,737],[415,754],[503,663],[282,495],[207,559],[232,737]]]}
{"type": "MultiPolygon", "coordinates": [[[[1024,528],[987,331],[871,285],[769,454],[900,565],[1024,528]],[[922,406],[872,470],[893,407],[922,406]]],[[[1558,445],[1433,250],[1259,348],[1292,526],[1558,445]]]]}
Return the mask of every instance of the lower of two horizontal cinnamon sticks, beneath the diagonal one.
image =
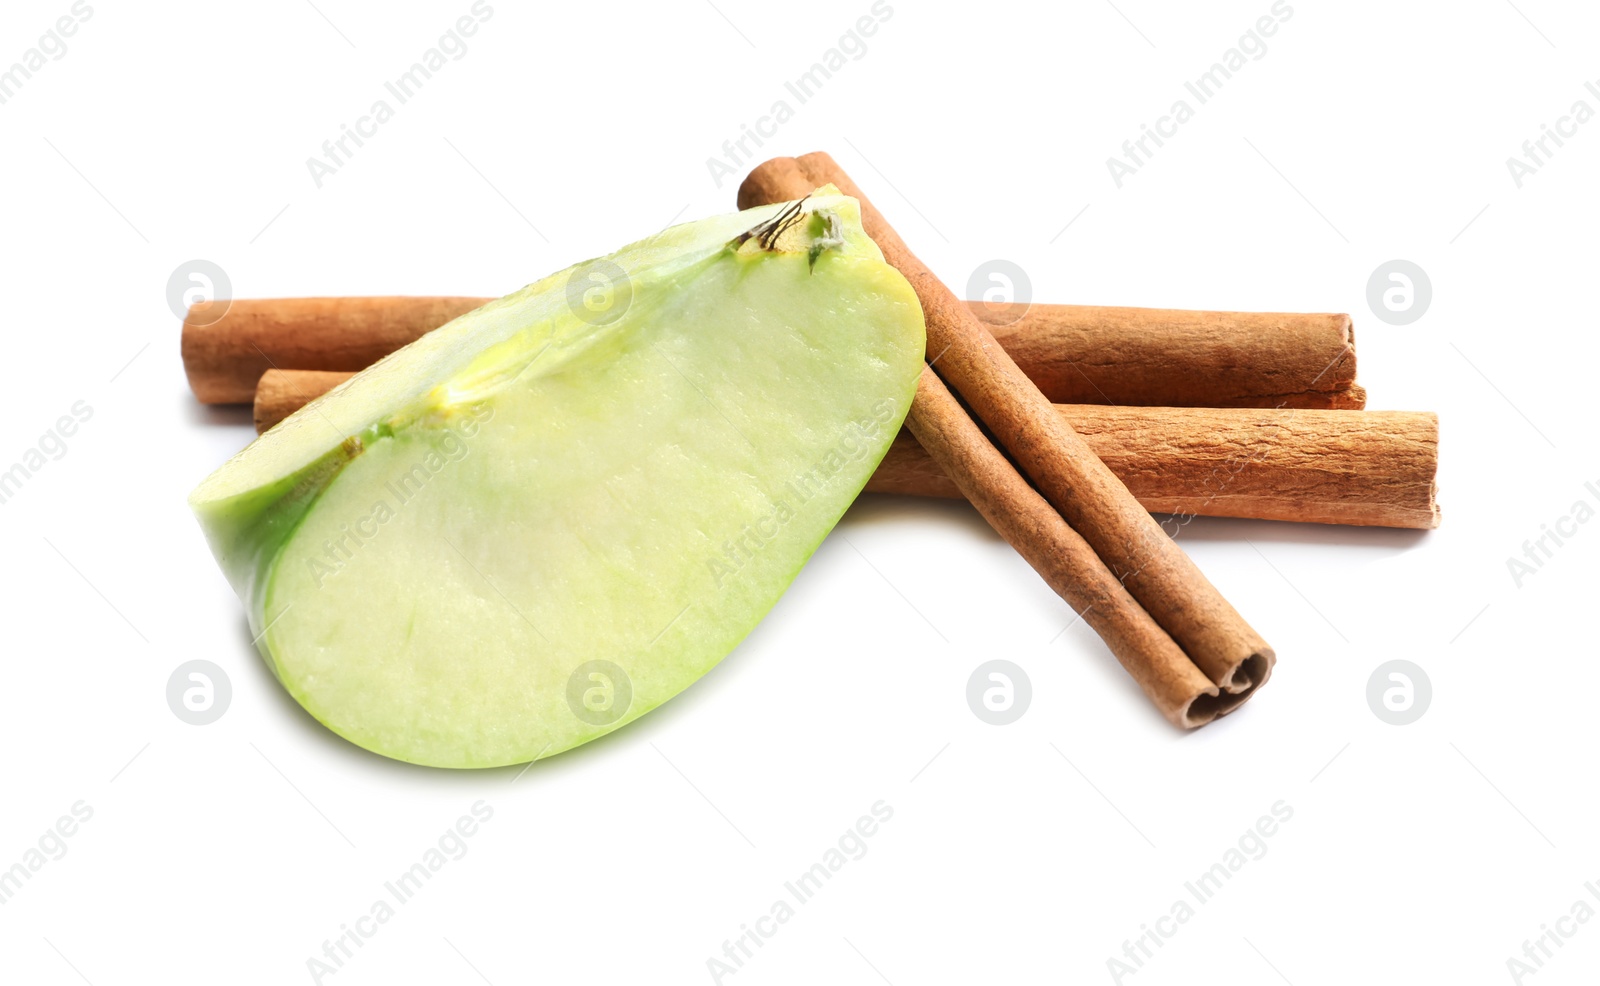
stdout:
{"type": "MultiPolygon", "coordinates": [[[[350,376],[269,370],[256,387],[256,431],[350,376]]],[[[1438,527],[1438,418],[1429,411],[1094,405],[1056,405],[1056,411],[1150,512],[1438,527]]],[[[962,496],[909,432],[894,439],[867,491],[962,496]]]]}

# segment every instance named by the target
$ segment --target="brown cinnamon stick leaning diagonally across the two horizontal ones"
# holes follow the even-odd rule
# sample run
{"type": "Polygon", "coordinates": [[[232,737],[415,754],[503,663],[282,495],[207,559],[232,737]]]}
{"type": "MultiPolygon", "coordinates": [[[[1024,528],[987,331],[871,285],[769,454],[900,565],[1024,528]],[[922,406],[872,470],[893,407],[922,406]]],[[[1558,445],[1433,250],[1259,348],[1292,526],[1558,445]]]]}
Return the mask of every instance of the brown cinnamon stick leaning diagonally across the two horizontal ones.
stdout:
{"type": "MultiPolygon", "coordinates": [[[[872,202],[829,155],[774,158],[757,166],[739,187],[739,206],[803,198],[814,187],[834,184],[859,200],[862,224],[883,250],[885,259],[910,282],[922,301],[928,328],[928,354],[938,376],[960,395],[944,387],[922,387],[907,416],[907,426],[930,456],[950,475],[968,498],[982,496],[986,509],[1002,517],[995,528],[1051,579],[1042,568],[1040,547],[1030,543],[1029,523],[1035,495],[1086,541],[1110,575],[1126,587],[1126,597],[1107,597],[1120,623],[1150,619],[1178,643],[1198,667],[1211,695],[1197,695],[1174,711],[1171,696],[1149,688],[1147,680],[1178,675],[1170,666],[1170,650],[1138,650],[1118,655],[1144,667],[1134,674],[1147,693],[1174,723],[1192,727],[1234,707],[1264,683],[1275,655],[1266,640],[1245,623],[1194,562],[1139,506],[1128,488],[1090,450],[1083,439],[1050,405],[1038,387],[995,343],[984,323],[946,288],[906,246],[872,202]],[[965,403],[965,407],[963,407],[965,403]],[[1019,469],[1011,472],[968,472],[973,456],[954,451],[944,435],[968,429],[982,437],[966,410],[987,427],[1019,469]],[[1035,493],[1037,490],[1037,493],[1035,493]],[[1030,506],[1032,504],[1032,506],[1030,506]]],[[[925,379],[933,375],[923,375],[925,379]]],[[[1067,555],[1077,559],[1077,555],[1067,555]]],[[[1091,571],[1074,570],[1072,578],[1088,579],[1091,571]]],[[[1053,583],[1066,597],[1062,586],[1053,583]]],[[[1072,599],[1067,599],[1070,603],[1072,599]]],[[[1139,634],[1138,639],[1146,639],[1139,634]]],[[[1192,679],[1192,675],[1186,675],[1192,679]]]]}

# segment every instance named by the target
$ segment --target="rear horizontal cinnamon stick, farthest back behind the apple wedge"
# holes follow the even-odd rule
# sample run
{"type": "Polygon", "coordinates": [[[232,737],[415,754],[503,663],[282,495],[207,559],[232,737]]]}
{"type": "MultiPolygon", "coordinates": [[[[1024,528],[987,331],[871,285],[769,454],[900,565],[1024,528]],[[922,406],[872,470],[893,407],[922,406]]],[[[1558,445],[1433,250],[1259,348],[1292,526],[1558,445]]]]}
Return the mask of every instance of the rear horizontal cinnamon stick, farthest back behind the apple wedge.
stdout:
{"type": "MultiPolygon", "coordinates": [[[[282,298],[200,303],[184,322],[203,403],[254,397],[269,368],[365,370],[491,298],[282,298]],[[216,306],[227,306],[221,319],[216,306]]],[[[966,306],[1056,403],[1360,408],[1349,315],[966,306]]]]}

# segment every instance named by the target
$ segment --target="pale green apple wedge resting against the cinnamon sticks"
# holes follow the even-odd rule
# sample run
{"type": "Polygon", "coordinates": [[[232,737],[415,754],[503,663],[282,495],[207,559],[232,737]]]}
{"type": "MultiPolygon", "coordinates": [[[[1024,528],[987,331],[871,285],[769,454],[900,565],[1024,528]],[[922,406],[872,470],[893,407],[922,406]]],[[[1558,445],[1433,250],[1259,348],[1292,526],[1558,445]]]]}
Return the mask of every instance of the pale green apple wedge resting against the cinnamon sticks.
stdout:
{"type": "Polygon", "coordinates": [[[414,764],[520,764],[728,655],[856,498],[922,365],[912,288],[827,187],[462,315],[190,506],[320,722],[414,764]]]}

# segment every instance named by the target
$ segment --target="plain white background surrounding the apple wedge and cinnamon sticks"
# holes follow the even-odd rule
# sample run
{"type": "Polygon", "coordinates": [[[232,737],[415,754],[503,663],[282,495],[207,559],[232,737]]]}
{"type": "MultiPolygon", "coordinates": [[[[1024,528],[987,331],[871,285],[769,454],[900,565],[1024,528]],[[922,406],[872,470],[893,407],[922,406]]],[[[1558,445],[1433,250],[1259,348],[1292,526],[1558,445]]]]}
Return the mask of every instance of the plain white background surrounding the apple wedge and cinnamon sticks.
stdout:
{"type": "MultiPolygon", "coordinates": [[[[893,0],[762,150],[830,150],[952,285],[1005,258],[1040,301],[1352,312],[1371,407],[1440,413],[1438,531],[1182,531],[1280,655],[1237,715],[1174,731],[976,514],[867,499],[669,706],[526,773],[446,773],[325,731],[248,647],[184,504],[248,411],[189,395],[168,275],[205,258],[237,296],[501,295],[731,210],[706,160],[869,2],[493,0],[318,189],[306,158],[469,0],[93,0],[0,106],[0,464],[94,411],[0,507],[0,868],[94,812],[0,906],[0,981],[312,981],[323,941],[480,799],[469,853],[323,981],[710,983],[723,941],[878,800],[867,855],[723,981],[1112,981],[1123,941],[1280,800],[1267,853],[1123,981],[1515,981],[1525,940],[1600,908],[1600,525],[1522,587],[1506,563],[1600,503],[1600,122],[1522,189],[1506,166],[1576,99],[1600,110],[1600,13],[1517,3],[1293,0],[1117,189],[1106,158],[1269,0],[893,0]],[[1408,327],[1366,307],[1394,258],[1434,285],[1408,327]],[[1003,728],[965,701],[992,658],[1034,687],[1003,728]],[[1414,725],[1366,704],[1394,658],[1432,680],[1414,725]],[[214,725],[166,706],[189,659],[232,679],[214,725]]],[[[0,66],[67,13],[10,0],[0,66]]],[[[1594,981],[1600,919],[1563,927],[1525,981],[1594,981]]]]}

